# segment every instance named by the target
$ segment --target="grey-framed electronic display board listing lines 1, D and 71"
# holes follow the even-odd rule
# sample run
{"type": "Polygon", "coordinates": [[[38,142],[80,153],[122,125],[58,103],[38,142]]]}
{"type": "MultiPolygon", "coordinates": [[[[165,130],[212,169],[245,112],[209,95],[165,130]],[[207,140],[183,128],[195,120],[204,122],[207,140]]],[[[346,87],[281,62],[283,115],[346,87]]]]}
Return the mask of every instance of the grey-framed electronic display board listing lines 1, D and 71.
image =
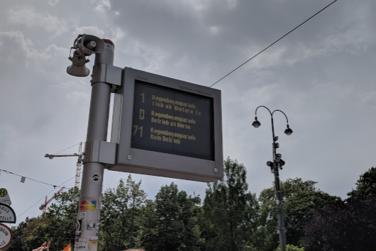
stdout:
{"type": "Polygon", "coordinates": [[[199,182],[223,177],[221,91],[124,68],[110,170],[199,182]]]}

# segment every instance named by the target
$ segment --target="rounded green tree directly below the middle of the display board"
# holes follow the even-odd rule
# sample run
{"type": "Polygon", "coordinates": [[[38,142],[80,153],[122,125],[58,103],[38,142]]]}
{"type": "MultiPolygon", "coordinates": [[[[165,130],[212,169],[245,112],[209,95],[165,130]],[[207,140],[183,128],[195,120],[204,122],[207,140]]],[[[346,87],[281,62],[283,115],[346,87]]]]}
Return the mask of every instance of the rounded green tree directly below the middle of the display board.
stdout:
{"type": "Polygon", "coordinates": [[[143,207],[138,247],[148,251],[198,251],[201,238],[194,204],[198,196],[187,196],[173,182],[162,186],[155,201],[147,201],[143,207]]]}

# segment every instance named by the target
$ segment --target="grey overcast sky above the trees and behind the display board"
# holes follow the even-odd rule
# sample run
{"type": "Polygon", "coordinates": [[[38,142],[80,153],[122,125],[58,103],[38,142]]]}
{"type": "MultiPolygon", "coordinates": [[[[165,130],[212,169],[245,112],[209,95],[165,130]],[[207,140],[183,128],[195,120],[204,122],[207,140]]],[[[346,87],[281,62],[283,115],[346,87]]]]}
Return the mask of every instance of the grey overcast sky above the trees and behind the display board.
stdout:
{"type": "MultiPolygon", "coordinates": [[[[331,1],[1,1],[0,169],[56,185],[74,177],[75,157],[44,155],[86,138],[90,77],[66,73],[78,34],[113,40],[117,67],[210,86],[331,1]]],[[[223,155],[245,164],[251,192],[260,194],[274,179],[265,165],[272,157],[265,109],[258,110],[260,128],[251,126],[260,105],[284,111],[294,130],[284,135],[285,118],[275,113],[287,163],[282,180],[314,180],[345,199],[375,165],[375,10],[376,1],[338,0],[214,85],[222,91],[223,155]]],[[[77,145],[66,152],[77,152],[77,145]]],[[[127,176],[105,170],[104,189],[127,176]]],[[[150,199],[171,182],[204,199],[207,186],[139,174],[133,179],[142,179],[150,199]]],[[[20,180],[1,172],[18,223],[38,216],[44,199],[33,204],[53,189],[20,180]]],[[[74,178],[65,186],[74,186],[74,178]]]]}

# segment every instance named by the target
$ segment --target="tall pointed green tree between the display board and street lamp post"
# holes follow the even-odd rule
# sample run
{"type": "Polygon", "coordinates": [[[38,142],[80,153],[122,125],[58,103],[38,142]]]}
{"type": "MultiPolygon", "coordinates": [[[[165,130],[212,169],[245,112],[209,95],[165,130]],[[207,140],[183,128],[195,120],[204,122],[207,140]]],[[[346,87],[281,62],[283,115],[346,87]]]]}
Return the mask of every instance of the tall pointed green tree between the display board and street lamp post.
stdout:
{"type": "Polygon", "coordinates": [[[248,191],[246,169],[229,157],[225,177],[208,184],[199,225],[205,242],[202,250],[253,250],[258,245],[259,206],[248,191]]]}

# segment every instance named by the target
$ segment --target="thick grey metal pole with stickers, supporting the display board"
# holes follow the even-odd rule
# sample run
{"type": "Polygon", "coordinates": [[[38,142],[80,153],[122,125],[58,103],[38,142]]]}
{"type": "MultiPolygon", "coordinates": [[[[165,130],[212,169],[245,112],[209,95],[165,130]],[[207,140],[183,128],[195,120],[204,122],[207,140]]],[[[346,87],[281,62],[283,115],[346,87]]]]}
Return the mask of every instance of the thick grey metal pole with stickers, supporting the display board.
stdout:
{"type": "MultiPolygon", "coordinates": [[[[111,40],[104,39],[104,45],[104,51],[95,55],[94,67],[98,64],[114,64],[114,44],[111,40]]],[[[110,84],[92,83],[87,141],[106,141],[110,97],[110,84]]],[[[88,245],[97,246],[103,173],[104,164],[84,162],[74,250],[88,250],[88,245]]]]}

